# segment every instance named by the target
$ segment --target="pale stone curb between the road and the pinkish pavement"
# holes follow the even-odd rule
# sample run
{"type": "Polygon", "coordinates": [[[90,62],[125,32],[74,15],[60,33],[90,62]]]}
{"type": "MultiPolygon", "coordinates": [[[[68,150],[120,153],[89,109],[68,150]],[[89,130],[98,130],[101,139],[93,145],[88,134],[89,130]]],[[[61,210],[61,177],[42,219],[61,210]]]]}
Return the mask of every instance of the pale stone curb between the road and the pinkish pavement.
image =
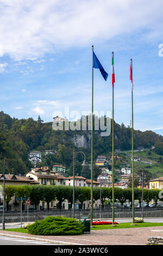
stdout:
{"type": "Polygon", "coordinates": [[[28,239],[28,240],[36,240],[40,242],[56,243],[57,245],[82,245],[81,243],[79,244],[79,243],[63,242],[58,240],[56,241],[56,240],[49,240],[49,239],[41,239],[41,238],[29,237],[29,236],[11,235],[11,234],[4,234],[4,233],[0,233],[0,235],[21,238],[21,239],[28,239]]]}

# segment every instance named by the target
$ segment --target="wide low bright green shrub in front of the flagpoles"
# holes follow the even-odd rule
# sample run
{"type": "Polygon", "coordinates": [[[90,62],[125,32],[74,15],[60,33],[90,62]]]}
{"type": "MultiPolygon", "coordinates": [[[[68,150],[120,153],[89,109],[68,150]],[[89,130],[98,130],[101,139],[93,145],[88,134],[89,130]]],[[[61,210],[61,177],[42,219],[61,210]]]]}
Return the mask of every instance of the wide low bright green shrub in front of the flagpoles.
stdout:
{"type": "Polygon", "coordinates": [[[28,230],[33,235],[81,235],[84,225],[73,218],[48,216],[44,220],[35,221],[29,225],[28,230]]]}

